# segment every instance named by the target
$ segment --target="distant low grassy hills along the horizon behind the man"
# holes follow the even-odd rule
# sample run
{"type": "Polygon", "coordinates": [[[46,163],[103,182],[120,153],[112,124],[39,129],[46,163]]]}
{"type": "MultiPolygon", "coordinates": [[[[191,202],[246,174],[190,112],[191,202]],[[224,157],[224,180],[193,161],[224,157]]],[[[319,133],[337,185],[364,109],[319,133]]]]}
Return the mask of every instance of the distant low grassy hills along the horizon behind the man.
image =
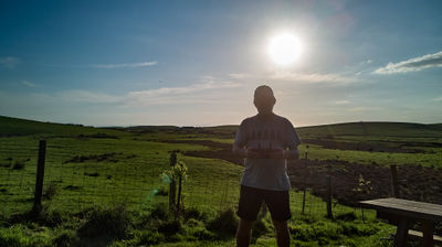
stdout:
{"type": "MultiPolygon", "coordinates": [[[[233,138],[238,126],[217,127],[176,127],[176,126],[136,126],[127,128],[94,128],[82,125],[53,124],[0,116],[0,136],[52,135],[96,135],[112,136],[133,133],[189,133],[233,138]]],[[[345,122],[322,126],[298,127],[302,137],[311,136],[376,136],[376,137],[442,137],[442,124],[423,125],[410,122],[345,122]]]]}

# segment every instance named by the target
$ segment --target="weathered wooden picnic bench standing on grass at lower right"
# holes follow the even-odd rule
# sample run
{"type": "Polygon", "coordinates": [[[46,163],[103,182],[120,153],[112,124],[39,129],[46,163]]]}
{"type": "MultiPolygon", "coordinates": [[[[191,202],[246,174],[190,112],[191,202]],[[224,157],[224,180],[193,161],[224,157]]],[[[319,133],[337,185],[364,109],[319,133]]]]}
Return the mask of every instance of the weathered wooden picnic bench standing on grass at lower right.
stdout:
{"type": "MultiPolygon", "coordinates": [[[[394,247],[407,246],[407,236],[410,234],[409,224],[412,222],[422,223],[422,245],[424,247],[432,247],[434,240],[439,240],[439,237],[434,237],[433,234],[434,225],[442,222],[442,205],[402,198],[369,200],[359,202],[359,205],[376,210],[377,217],[398,226],[394,247]]],[[[419,236],[419,232],[411,232],[411,235],[419,236]]]]}

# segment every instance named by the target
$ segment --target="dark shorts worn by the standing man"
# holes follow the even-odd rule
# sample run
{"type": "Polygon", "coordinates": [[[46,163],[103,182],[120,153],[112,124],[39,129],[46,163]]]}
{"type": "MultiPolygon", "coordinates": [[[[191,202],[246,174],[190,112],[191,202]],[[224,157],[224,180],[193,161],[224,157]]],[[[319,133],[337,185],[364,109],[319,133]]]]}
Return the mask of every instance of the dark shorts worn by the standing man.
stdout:
{"type": "Polygon", "coordinates": [[[256,221],[263,202],[267,205],[272,219],[284,222],[292,217],[288,191],[270,191],[244,185],[241,185],[236,215],[245,221],[256,221]]]}

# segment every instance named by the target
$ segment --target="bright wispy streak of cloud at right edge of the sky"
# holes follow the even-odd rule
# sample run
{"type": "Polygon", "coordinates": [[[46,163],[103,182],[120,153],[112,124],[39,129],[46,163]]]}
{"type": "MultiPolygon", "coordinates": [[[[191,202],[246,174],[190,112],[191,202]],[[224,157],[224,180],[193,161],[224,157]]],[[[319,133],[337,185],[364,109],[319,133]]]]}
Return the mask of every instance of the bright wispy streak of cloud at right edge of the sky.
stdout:
{"type": "Polygon", "coordinates": [[[387,66],[376,69],[375,74],[398,74],[408,72],[419,72],[430,67],[442,67],[442,52],[428,54],[420,57],[402,61],[399,63],[388,63],[387,66]]]}

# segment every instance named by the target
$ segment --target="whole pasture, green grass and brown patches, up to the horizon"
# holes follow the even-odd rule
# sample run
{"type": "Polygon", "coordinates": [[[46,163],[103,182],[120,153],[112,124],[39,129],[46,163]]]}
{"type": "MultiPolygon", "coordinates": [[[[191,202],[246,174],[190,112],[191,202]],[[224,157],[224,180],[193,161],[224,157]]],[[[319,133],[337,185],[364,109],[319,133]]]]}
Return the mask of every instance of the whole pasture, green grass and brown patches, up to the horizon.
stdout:
{"type": "MultiPolygon", "coordinates": [[[[185,206],[189,212],[194,208],[207,216],[190,222],[189,216],[183,216],[182,228],[176,232],[161,228],[172,224],[170,218],[150,218],[148,224],[151,225],[147,228],[138,219],[130,219],[126,227],[131,234],[125,232],[123,238],[108,240],[107,232],[102,233],[97,246],[143,243],[231,246],[232,235],[212,229],[211,222],[217,219],[218,212],[234,208],[238,203],[242,167],[238,164],[241,160],[230,153],[236,128],[93,128],[0,117],[0,246],[4,243],[46,246],[64,238],[71,244],[87,243],[91,236],[85,238],[80,228],[90,223],[91,216],[72,214],[88,215],[84,212],[95,206],[125,202],[130,215],[156,212],[159,205],[168,202],[169,184],[160,174],[169,168],[173,150],[188,167],[183,183],[185,206]],[[70,216],[52,226],[38,223],[44,227],[39,232],[14,215],[32,206],[41,139],[48,141],[43,205],[49,212],[70,216]],[[10,228],[11,224],[15,228],[10,228]]],[[[304,127],[298,128],[298,132],[304,140],[299,147],[303,157],[308,151],[307,160],[290,165],[295,189],[291,192],[294,214],[291,232],[296,245],[318,246],[320,238],[324,246],[388,246],[379,239],[394,228],[377,222],[373,212],[365,212],[362,217],[360,208],[351,205],[359,198],[388,195],[390,164],[400,165],[404,196],[428,202],[442,198],[438,187],[442,184],[441,125],[354,122],[304,127]],[[347,181],[336,186],[334,213],[350,215],[347,216],[350,219],[324,218],[323,181],[327,174],[336,181],[347,181]],[[370,182],[371,191],[360,192],[367,189],[360,186],[361,176],[370,182]],[[299,189],[306,186],[304,182],[308,182],[309,189],[305,215],[301,216],[303,192],[299,189]],[[341,236],[334,238],[335,235],[341,236]]],[[[262,221],[263,229],[257,230],[261,235],[255,236],[254,246],[275,246],[269,215],[262,221]]]]}

